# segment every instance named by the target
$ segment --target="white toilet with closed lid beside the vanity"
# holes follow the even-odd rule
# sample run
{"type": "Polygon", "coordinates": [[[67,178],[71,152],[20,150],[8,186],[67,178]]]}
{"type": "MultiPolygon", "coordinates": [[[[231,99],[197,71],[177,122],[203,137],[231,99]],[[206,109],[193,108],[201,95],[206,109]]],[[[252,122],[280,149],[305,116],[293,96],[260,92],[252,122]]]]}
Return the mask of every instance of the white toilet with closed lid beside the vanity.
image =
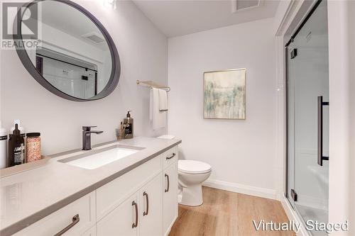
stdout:
{"type": "Polygon", "coordinates": [[[211,172],[212,168],[207,163],[179,160],[179,203],[185,206],[202,205],[202,182],[211,175],[211,172]]]}

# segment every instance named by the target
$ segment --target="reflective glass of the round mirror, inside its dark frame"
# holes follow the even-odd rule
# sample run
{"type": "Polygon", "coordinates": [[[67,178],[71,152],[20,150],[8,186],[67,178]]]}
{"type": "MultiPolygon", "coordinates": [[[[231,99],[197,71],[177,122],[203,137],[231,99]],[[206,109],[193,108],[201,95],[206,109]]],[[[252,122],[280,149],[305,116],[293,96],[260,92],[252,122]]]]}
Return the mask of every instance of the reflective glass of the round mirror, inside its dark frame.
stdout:
{"type": "MultiPolygon", "coordinates": [[[[23,17],[37,7],[39,43],[26,48],[33,66],[63,93],[92,99],[109,86],[112,59],[107,40],[84,13],[60,1],[38,1],[23,17]]],[[[26,32],[24,23],[21,32],[26,32]]]]}

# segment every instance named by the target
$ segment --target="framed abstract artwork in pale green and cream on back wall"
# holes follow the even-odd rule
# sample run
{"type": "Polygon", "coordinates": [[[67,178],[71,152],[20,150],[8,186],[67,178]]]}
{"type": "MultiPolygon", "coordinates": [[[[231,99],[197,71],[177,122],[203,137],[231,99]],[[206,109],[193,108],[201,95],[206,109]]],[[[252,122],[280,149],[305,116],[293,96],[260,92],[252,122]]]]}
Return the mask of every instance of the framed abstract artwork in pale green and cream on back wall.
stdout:
{"type": "Polygon", "coordinates": [[[204,118],[246,118],[246,69],[204,72],[204,118]]]}

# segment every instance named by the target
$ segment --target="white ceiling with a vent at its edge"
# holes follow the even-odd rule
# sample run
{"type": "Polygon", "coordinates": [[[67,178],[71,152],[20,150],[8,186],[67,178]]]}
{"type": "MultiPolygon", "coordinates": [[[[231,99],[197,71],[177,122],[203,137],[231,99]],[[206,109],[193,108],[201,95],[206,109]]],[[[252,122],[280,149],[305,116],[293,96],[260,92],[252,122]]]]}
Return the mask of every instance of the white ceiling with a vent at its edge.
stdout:
{"type": "MultiPolygon", "coordinates": [[[[270,18],[279,1],[261,0],[258,7],[233,12],[236,0],[133,0],[168,37],[270,18]]],[[[247,4],[241,2],[239,6],[247,4]]]]}

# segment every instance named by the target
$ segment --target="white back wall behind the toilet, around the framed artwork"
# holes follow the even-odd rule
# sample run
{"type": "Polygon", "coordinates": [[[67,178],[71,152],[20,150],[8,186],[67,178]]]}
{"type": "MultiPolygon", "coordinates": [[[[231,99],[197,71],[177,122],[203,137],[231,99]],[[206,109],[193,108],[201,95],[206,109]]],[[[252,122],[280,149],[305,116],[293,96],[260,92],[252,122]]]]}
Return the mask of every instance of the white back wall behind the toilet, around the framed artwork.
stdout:
{"type": "Polygon", "coordinates": [[[180,158],[211,164],[214,183],[275,198],[273,19],[169,38],[168,48],[168,133],[183,140],[180,158]],[[244,67],[246,120],[204,120],[203,72],[244,67]]]}

